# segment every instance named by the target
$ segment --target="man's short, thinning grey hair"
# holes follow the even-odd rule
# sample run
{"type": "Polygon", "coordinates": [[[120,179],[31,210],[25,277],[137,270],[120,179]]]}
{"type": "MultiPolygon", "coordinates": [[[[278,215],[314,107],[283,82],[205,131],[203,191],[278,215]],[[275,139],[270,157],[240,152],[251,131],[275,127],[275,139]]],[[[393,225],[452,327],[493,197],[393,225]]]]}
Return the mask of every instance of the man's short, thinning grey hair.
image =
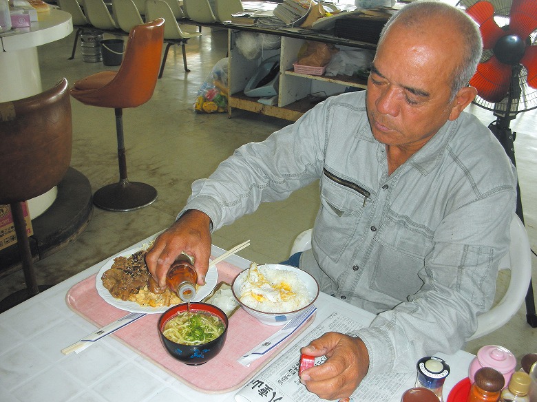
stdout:
{"type": "MultiPolygon", "coordinates": [[[[394,23],[412,28],[421,25],[432,17],[439,16],[450,19],[453,29],[463,37],[464,46],[461,48],[463,57],[459,66],[451,73],[451,100],[453,100],[457,92],[470,82],[470,78],[476,72],[477,64],[483,52],[481,32],[479,32],[474,20],[465,12],[439,1],[414,1],[401,8],[384,25],[379,39],[379,46],[394,23]]],[[[446,37],[453,35],[450,32],[438,32],[438,34],[446,37]]]]}

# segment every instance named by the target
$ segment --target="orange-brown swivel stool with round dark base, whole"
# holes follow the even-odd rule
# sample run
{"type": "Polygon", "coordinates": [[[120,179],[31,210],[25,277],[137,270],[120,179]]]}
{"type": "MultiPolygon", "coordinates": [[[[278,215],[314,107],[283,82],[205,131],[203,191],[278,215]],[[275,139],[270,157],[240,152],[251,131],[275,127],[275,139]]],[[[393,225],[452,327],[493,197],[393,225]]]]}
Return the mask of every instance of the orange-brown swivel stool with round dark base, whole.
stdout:
{"type": "Polygon", "coordinates": [[[133,211],[155,202],[157,191],[149,184],[130,182],[123,138],[123,108],[138,107],[153,96],[160,68],[164,19],[132,28],[119,70],[92,74],[76,81],[71,95],[85,105],[113,107],[116,112],[119,182],[98,189],[94,204],[108,211],[133,211]]]}

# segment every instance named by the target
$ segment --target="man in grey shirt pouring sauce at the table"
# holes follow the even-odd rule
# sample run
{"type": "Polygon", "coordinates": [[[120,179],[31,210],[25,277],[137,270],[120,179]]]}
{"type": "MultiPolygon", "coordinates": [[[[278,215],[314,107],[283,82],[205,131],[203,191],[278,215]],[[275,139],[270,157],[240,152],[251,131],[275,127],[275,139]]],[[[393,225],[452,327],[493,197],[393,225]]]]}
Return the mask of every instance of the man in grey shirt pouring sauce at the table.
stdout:
{"type": "MultiPolygon", "coordinates": [[[[347,398],[361,379],[455,352],[494,298],[507,251],[516,173],[463,109],[481,36],[463,12],[415,2],[386,24],[368,89],[328,98],[296,123],[244,145],[193,193],[147,255],[159,284],[181,252],[207,272],[211,231],[320,179],[312,249],[299,266],[326,293],[377,317],[303,348],[310,392],[347,398]]],[[[200,284],[203,279],[200,279],[200,284]]]]}

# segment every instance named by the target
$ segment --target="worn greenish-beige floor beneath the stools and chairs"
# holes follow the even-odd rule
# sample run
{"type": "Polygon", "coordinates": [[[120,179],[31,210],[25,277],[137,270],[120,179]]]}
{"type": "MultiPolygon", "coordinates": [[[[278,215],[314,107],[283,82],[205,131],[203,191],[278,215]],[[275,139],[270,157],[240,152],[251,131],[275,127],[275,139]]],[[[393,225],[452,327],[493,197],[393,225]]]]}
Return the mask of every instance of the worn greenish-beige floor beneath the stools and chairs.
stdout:
{"type": "MultiPolygon", "coordinates": [[[[62,77],[70,83],[114,67],[84,63],[80,47],[70,56],[74,34],[39,47],[43,87],[49,88],[62,77]]],[[[80,237],[54,255],[36,264],[41,284],[55,284],[113,255],[171,224],[187,200],[190,184],[204,178],[240,145],[263,140],[287,122],[235,111],[227,114],[195,114],[193,101],[200,84],[213,65],[227,54],[227,32],[204,28],[200,38],[187,45],[191,72],[182,69],[179,47],[172,47],[162,79],[153,98],[136,109],[125,109],[125,142],[129,178],[154,185],[158,200],[150,207],[127,213],[94,209],[89,226],[80,237]]],[[[133,85],[136,85],[134,83],[133,85]]],[[[483,123],[494,120],[491,112],[470,107],[483,123]]],[[[118,180],[116,134],[112,109],[89,107],[72,99],[72,167],[81,171],[95,191],[118,180]]],[[[517,161],[522,188],[527,231],[531,246],[537,248],[537,113],[519,116],[512,127],[518,132],[517,161]]],[[[288,256],[295,236],[313,225],[319,205],[315,184],[297,191],[288,200],[264,204],[253,215],[213,234],[213,244],[231,248],[250,239],[251,246],[239,254],[255,262],[278,262],[288,256]]],[[[537,258],[534,282],[537,282],[537,258]]],[[[498,287],[505,287],[499,281],[498,287]]],[[[0,299],[24,288],[21,272],[0,279],[0,299]]],[[[500,344],[520,358],[537,351],[537,329],[525,322],[525,307],[509,324],[493,334],[472,341],[467,350],[476,352],[486,344],[500,344]]]]}

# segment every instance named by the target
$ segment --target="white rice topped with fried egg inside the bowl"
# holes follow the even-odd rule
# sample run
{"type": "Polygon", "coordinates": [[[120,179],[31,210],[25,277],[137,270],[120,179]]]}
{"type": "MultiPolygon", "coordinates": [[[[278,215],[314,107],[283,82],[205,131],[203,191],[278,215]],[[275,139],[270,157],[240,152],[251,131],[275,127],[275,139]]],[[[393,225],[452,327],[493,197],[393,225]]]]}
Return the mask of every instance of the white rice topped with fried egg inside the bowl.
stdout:
{"type": "Polygon", "coordinates": [[[306,284],[293,271],[252,264],[240,284],[242,304],[265,313],[286,313],[310,303],[306,284]]]}

